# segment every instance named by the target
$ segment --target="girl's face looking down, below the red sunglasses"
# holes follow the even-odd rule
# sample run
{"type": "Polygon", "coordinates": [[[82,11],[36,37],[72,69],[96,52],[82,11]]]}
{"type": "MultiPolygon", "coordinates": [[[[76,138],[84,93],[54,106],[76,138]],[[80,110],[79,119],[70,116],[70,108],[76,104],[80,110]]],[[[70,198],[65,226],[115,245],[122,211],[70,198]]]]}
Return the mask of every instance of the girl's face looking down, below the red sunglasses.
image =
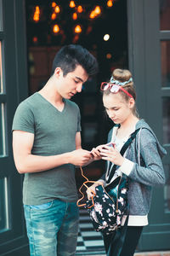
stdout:
{"type": "Polygon", "coordinates": [[[126,102],[120,93],[104,94],[103,103],[109,118],[115,124],[122,124],[133,114],[133,98],[129,97],[129,101],[126,102]]]}

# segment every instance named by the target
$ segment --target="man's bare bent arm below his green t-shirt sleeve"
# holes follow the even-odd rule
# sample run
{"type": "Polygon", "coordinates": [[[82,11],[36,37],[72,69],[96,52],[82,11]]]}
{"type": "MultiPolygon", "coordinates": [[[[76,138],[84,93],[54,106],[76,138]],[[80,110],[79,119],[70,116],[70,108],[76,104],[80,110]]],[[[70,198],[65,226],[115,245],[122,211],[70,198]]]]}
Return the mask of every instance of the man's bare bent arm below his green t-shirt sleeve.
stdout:
{"type": "Polygon", "coordinates": [[[31,154],[34,143],[34,134],[26,131],[13,131],[13,152],[14,163],[20,173],[43,172],[57,166],[72,164],[83,166],[89,159],[87,150],[81,149],[80,135],[76,137],[77,150],[50,156],[40,156],[31,154]]]}

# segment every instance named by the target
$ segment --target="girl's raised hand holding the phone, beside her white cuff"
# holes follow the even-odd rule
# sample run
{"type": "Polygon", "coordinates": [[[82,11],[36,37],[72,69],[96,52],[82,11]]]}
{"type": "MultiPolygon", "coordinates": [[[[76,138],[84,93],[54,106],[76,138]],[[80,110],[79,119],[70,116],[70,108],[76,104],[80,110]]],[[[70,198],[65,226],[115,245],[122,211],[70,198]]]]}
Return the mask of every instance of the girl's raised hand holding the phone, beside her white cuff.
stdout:
{"type": "Polygon", "coordinates": [[[103,160],[109,160],[117,166],[122,166],[124,157],[116,148],[105,145],[105,148],[100,149],[100,155],[103,160]]]}

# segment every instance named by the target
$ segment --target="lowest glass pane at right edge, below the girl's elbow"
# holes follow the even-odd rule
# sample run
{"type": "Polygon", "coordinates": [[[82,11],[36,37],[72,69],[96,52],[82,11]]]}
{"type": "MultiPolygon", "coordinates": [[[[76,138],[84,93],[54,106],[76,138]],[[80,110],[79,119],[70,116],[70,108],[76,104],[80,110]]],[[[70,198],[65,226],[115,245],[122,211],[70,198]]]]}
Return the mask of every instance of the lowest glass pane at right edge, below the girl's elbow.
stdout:
{"type": "Polygon", "coordinates": [[[167,177],[167,182],[164,186],[165,212],[170,212],[170,165],[165,165],[164,170],[167,177]]]}

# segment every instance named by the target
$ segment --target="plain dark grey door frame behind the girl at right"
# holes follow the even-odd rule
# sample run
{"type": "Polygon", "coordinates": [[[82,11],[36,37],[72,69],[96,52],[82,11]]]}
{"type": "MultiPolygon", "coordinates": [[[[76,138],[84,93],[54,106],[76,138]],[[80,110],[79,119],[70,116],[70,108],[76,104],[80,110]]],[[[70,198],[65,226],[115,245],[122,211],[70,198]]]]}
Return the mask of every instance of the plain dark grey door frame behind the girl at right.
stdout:
{"type": "MultiPolygon", "coordinates": [[[[162,144],[161,47],[159,0],[127,0],[128,60],[137,90],[137,107],[162,144]]],[[[167,88],[169,95],[169,88],[167,88]]],[[[164,145],[169,154],[169,145],[164,145]]],[[[163,164],[170,164],[164,157],[163,164]]],[[[164,212],[163,187],[154,188],[149,225],[144,227],[139,250],[169,249],[170,214],[164,212]]]]}

